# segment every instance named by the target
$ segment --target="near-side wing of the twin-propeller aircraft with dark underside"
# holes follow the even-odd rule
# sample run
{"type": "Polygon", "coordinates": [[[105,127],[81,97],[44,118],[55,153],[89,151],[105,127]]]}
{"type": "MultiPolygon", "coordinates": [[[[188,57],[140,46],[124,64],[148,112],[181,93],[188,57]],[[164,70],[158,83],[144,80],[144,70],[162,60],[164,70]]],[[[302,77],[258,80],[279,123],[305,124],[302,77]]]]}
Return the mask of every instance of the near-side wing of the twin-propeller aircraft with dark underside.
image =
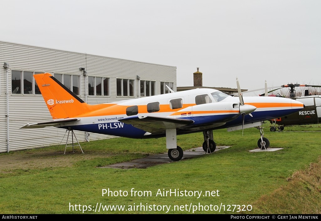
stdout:
{"type": "Polygon", "coordinates": [[[190,119],[178,119],[167,117],[138,116],[119,120],[126,124],[131,124],[135,128],[142,129],[151,134],[164,133],[166,129],[183,128],[194,123],[190,119]]]}

